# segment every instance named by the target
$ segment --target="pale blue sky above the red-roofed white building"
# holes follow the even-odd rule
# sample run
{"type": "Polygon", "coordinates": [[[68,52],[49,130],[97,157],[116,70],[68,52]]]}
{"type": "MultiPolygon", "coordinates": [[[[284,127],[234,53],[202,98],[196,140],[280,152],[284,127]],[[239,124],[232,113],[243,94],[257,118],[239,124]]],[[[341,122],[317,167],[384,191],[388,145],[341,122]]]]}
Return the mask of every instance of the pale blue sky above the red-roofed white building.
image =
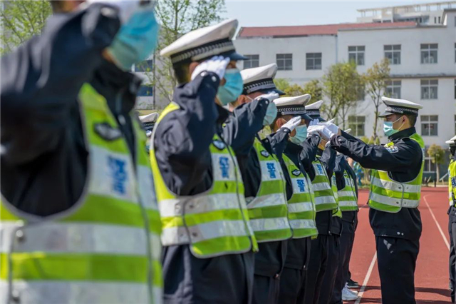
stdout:
{"type": "Polygon", "coordinates": [[[356,22],[357,9],[399,6],[437,1],[267,1],[225,0],[224,18],[236,18],[239,26],[289,26],[356,22]]]}

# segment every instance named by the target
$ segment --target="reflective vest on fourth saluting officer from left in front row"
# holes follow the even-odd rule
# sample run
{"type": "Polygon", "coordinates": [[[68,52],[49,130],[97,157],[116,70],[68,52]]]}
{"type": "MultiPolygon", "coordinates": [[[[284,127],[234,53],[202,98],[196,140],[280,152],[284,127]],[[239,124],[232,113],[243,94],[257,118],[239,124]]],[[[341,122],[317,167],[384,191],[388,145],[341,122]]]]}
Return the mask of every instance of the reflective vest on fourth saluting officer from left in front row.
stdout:
{"type": "Polygon", "coordinates": [[[293,188],[293,195],[288,201],[288,216],[293,230],[293,238],[306,238],[317,235],[314,193],[309,177],[305,172],[301,172],[285,154],[282,157],[293,188]]]}

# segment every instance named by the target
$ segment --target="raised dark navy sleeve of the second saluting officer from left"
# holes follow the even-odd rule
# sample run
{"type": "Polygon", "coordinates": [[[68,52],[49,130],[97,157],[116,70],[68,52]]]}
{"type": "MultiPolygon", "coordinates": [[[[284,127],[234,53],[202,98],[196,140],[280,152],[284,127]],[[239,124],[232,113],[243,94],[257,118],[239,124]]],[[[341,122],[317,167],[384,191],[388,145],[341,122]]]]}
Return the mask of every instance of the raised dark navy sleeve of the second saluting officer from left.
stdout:
{"type": "Polygon", "coordinates": [[[190,193],[211,166],[209,146],[216,132],[218,112],[214,98],[218,86],[216,74],[203,72],[176,88],[173,98],[180,109],[169,113],[155,127],[158,167],[167,186],[177,194],[190,193]]]}

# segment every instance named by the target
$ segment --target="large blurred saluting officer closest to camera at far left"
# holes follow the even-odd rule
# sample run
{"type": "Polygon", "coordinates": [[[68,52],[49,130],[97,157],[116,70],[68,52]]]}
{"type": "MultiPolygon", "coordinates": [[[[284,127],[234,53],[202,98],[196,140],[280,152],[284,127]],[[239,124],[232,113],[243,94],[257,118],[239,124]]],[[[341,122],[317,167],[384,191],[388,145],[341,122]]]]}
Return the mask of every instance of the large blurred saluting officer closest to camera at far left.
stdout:
{"type": "Polygon", "coordinates": [[[153,6],[80,2],[53,1],[41,36],[1,58],[0,302],[160,303],[160,217],[128,72],[155,49],[153,6]]]}

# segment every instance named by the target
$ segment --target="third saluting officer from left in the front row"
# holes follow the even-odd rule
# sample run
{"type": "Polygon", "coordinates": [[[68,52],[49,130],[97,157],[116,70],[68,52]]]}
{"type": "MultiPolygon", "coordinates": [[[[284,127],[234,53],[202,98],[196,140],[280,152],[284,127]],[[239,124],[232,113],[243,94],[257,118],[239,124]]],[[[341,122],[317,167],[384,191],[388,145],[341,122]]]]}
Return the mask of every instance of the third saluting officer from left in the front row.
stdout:
{"type": "MultiPolygon", "coordinates": [[[[276,71],[276,64],[241,71],[244,91],[237,101],[229,105],[237,117],[247,116],[248,113],[242,113],[244,109],[249,111],[246,103],[255,103],[261,96],[265,96],[264,94],[284,94],[274,85],[276,71]]],[[[276,105],[271,102],[264,116],[263,125],[269,126],[276,115],[276,105]]],[[[289,134],[300,122],[299,118],[295,125],[281,128],[280,131],[289,134]]],[[[287,140],[288,136],[281,136],[281,141],[287,140]]],[[[258,304],[279,303],[279,279],[286,256],[286,240],[291,238],[284,195],[285,180],[279,161],[273,153],[276,151],[281,154],[281,151],[276,150],[277,146],[284,146],[280,143],[272,147],[268,139],[261,141],[257,137],[249,151],[235,151],[244,181],[250,223],[259,243],[259,252],[255,254],[252,301],[258,304]]]]}

